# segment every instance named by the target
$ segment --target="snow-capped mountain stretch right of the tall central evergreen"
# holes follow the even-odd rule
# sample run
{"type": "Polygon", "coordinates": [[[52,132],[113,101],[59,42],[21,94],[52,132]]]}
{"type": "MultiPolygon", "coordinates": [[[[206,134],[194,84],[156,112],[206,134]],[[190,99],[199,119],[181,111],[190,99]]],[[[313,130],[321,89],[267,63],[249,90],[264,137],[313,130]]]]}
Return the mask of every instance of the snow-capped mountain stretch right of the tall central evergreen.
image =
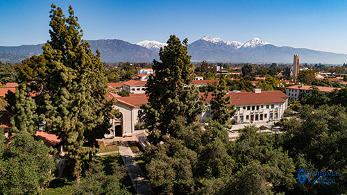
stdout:
{"type": "Polygon", "coordinates": [[[203,37],[188,46],[192,61],[201,62],[284,62],[292,63],[295,54],[301,63],[343,64],[346,54],[276,46],[254,38],[242,45],[230,46],[230,42],[219,38],[203,37]]]}

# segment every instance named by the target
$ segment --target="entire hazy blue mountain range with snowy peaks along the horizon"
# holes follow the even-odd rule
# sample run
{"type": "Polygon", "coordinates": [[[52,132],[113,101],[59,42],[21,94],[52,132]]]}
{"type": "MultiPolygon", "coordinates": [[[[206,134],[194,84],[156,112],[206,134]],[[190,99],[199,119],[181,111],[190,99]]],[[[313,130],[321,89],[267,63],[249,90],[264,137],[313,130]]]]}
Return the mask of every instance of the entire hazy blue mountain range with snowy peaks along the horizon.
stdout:
{"type": "MultiPolygon", "coordinates": [[[[142,41],[131,44],[123,40],[87,40],[92,51],[101,51],[103,62],[153,62],[158,60],[158,51],[166,43],[142,41]]],[[[0,46],[1,62],[20,62],[25,58],[42,53],[42,45],[0,46]]],[[[226,41],[221,38],[202,37],[188,46],[193,62],[278,62],[291,63],[294,54],[300,55],[301,63],[343,64],[346,54],[276,46],[254,38],[246,43],[226,41]]]]}

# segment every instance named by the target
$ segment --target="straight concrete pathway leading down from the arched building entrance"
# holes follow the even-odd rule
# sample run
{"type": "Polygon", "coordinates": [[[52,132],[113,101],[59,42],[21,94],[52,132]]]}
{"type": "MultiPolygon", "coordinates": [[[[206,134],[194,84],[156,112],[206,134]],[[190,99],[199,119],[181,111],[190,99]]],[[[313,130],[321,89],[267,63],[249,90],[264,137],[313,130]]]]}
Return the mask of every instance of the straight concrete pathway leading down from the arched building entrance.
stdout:
{"type": "Polygon", "coordinates": [[[144,172],[142,172],[139,164],[135,160],[135,155],[133,151],[131,151],[128,142],[118,142],[119,153],[121,158],[123,159],[126,168],[128,169],[128,174],[130,176],[131,182],[136,190],[137,194],[141,195],[153,195],[154,192],[149,185],[148,180],[146,180],[146,176],[144,176],[144,172]]]}

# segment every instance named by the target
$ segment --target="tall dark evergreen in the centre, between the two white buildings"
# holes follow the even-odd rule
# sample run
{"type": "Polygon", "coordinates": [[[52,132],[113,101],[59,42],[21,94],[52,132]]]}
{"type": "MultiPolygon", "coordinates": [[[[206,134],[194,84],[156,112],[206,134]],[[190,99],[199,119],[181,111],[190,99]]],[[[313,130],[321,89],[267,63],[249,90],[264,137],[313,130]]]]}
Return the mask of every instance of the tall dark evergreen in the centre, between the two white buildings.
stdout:
{"type": "Polygon", "coordinates": [[[198,90],[189,86],[193,65],[191,56],[187,55],[187,39],[182,44],[178,37],[171,35],[159,56],[161,62],[153,61],[155,74],[149,76],[146,84],[149,103],[142,105],[142,121],[149,127],[151,138],[155,138],[152,142],[160,142],[162,135],[174,133],[169,124],[177,117],[185,117],[187,124],[192,124],[202,111],[198,90]]]}

